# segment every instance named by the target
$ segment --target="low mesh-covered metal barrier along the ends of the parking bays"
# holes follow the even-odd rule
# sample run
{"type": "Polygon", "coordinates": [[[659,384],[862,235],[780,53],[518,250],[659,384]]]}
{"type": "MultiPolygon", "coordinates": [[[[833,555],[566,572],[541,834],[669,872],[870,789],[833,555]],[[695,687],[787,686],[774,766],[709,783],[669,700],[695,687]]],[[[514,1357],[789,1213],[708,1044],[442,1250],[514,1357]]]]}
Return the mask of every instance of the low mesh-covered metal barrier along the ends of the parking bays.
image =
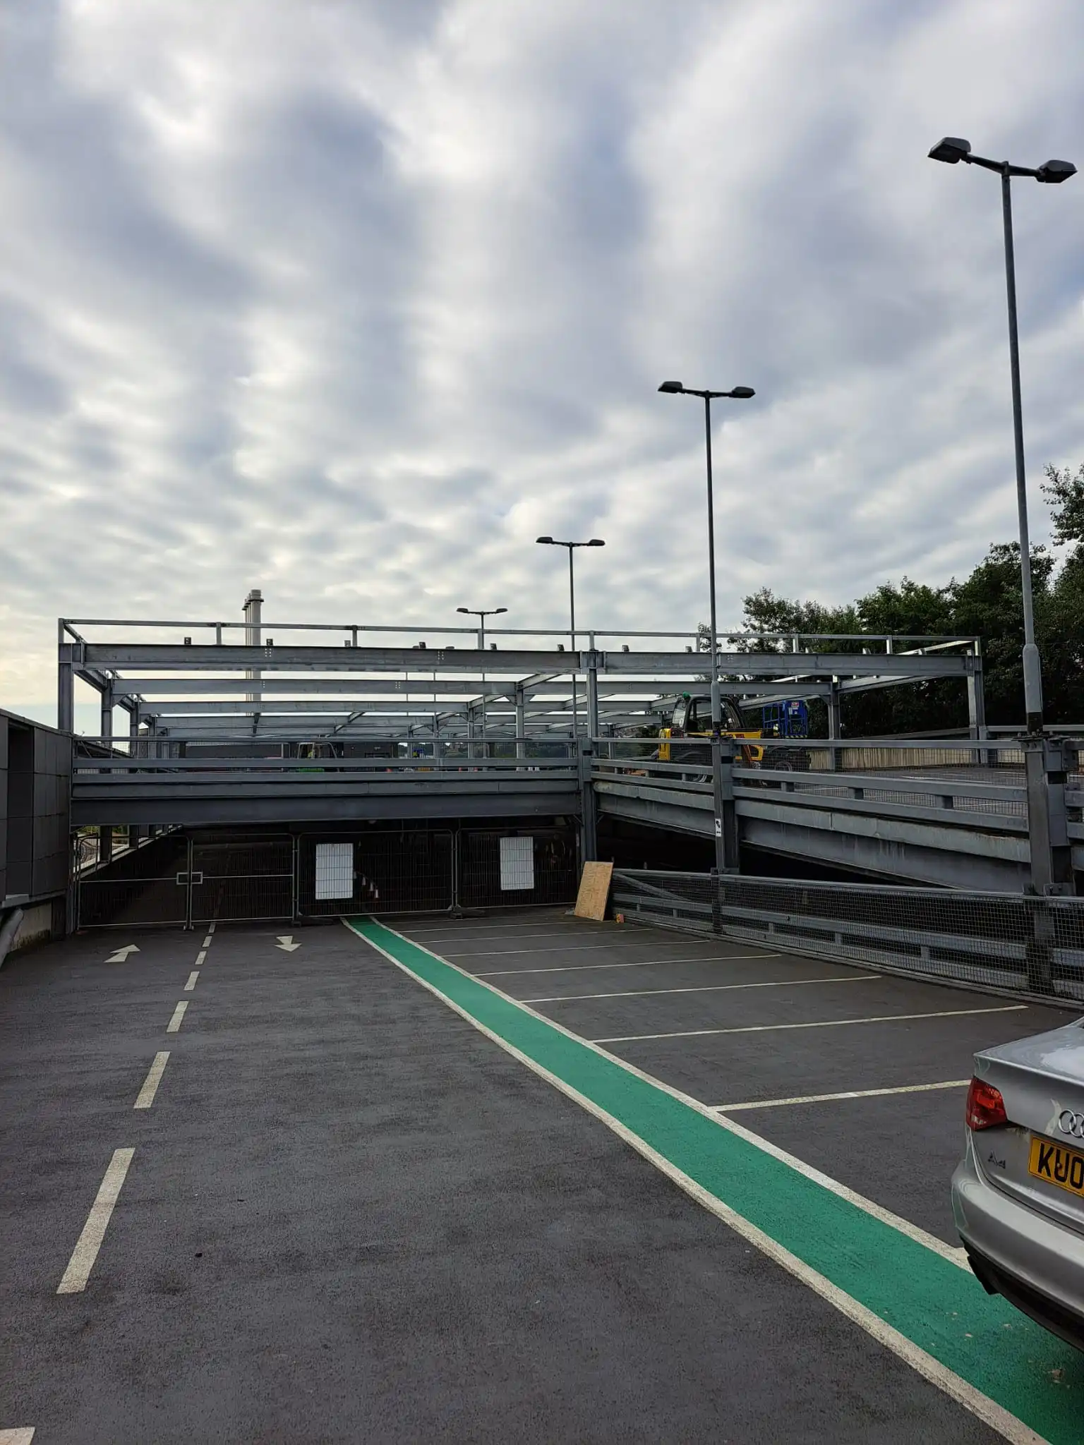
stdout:
{"type": "Polygon", "coordinates": [[[1084,899],[619,868],[627,922],[1084,1001],[1084,899]]]}

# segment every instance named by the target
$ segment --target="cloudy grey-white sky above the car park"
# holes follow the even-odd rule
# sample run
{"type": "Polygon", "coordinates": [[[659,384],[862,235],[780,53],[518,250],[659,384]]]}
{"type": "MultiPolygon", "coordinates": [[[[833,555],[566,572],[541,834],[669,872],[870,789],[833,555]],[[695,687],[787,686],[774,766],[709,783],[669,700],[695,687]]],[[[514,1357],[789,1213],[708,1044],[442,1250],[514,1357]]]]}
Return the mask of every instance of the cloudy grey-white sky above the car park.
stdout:
{"type": "MultiPolygon", "coordinates": [[[[1080,0],[0,6],[0,705],[55,618],[565,616],[944,582],[1015,530],[997,179],[1084,169],[1080,0]]],[[[1018,182],[1033,530],[1084,178],[1018,182]]]]}

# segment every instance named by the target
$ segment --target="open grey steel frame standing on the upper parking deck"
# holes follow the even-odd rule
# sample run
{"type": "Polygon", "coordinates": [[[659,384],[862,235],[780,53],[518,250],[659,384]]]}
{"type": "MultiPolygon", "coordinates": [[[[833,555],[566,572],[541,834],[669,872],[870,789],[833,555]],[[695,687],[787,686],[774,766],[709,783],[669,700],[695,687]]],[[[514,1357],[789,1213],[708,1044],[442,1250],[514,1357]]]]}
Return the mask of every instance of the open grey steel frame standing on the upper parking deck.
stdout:
{"type": "MultiPolygon", "coordinates": [[[[483,652],[470,627],[61,618],[58,724],[74,731],[77,681],[100,696],[100,744],[142,756],[176,756],[188,744],[205,753],[264,741],[473,741],[484,704],[486,738],[515,741],[528,756],[532,741],[572,737],[577,672],[587,676],[588,737],[655,727],[675,694],[707,686],[708,659],[692,631],[587,630],[588,647],[577,653],[559,630],[487,631],[499,642],[483,652]],[[153,639],[133,640],[147,633],[153,639]],[[114,736],[116,708],[129,714],[126,737],[114,736]]],[[[740,679],[728,691],[747,702],[822,696],[831,737],[843,694],[931,678],[965,681],[971,736],[986,736],[974,637],[733,631],[721,643],[731,644],[720,652],[721,672],[740,679]],[[838,650],[818,650],[834,643],[838,650]],[[856,643],[860,652],[846,650],[856,643]],[[778,646],[786,650],[746,650],[778,646]]]]}

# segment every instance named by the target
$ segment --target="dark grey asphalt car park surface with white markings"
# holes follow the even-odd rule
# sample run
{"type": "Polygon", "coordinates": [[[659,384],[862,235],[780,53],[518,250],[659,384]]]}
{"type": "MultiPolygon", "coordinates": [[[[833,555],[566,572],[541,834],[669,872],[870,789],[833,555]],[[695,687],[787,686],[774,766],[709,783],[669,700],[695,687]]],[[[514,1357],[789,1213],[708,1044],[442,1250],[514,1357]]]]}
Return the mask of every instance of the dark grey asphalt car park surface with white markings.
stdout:
{"type": "MultiPolygon", "coordinates": [[[[763,1030],[606,1045],[711,1105],[961,1079],[1067,1017],[779,1029],[1007,1000],[556,910],[403,932],[584,1038],[763,1030]],[[713,991],[646,993],[676,987],[713,991]]],[[[0,971],[0,1439],[999,1438],[358,938],[295,941],[218,929],[188,991],[201,933],[0,971]],[[58,1295],[117,1149],[85,1289],[58,1295]]],[[[961,1108],[733,1117],[955,1243],[961,1108]]]]}

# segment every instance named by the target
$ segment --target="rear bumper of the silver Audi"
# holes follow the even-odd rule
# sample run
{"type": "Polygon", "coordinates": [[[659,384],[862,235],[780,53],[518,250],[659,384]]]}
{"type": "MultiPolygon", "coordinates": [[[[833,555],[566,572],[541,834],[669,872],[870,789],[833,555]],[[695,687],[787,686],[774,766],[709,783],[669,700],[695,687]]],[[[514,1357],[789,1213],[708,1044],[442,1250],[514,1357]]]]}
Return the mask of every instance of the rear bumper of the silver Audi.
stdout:
{"type": "Polygon", "coordinates": [[[996,1189],[970,1136],[952,1175],[952,1215],[978,1280],[1084,1350],[1084,1235],[996,1189]]]}

